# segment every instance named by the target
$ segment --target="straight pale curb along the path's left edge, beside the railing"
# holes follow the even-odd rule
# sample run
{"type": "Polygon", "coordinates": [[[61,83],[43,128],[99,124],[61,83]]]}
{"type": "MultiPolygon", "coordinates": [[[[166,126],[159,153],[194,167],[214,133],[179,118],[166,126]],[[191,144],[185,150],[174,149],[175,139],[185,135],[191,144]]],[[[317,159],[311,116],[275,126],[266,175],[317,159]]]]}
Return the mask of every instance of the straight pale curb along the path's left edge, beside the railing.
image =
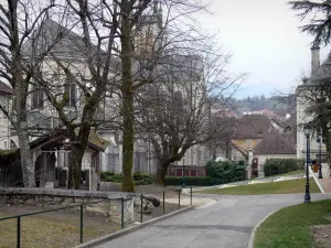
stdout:
{"type": "Polygon", "coordinates": [[[139,229],[142,229],[145,228],[146,226],[150,225],[150,224],[153,224],[153,223],[158,223],[158,222],[161,222],[166,218],[170,218],[172,216],[175,216],[175,215],[179,215],[179,214],[182,214],[182,213],[185,213],[188,211],[191,211],[193,209],[194,207],[193,206],[189,206],[189,207],[184,207],[182,209],[179,209],[179,211],[175,211],[175,212],[172,212],[170,214],[167,214],[167,215],[162,215],[158,218],[153,218],[153,219],[150,219],[150,220],[147,220],[146,223],[141,223],[137,226],[132,226],[132,227],[129,227],[129,228],[126,228],[124,230],[119,230],[119,231],[116,231],[114,234],[110,234],[110,235],[106,235],[106,236],[103,236],[103,237],[99,237],[99,238],[96,238],[96,239],[93,239],[90,241],[87,241],[87,242],[83,242],[78,246],[75,246],[74,248],[93,248],[93,247],[96,247],[98,245],[102,245],[106,241],[110,241],[115,238],[118,238],[118,237],[121,237],[121,236],[125,236],[127,234],[131,234],[136,230],[139,230],[139,229]]]}

